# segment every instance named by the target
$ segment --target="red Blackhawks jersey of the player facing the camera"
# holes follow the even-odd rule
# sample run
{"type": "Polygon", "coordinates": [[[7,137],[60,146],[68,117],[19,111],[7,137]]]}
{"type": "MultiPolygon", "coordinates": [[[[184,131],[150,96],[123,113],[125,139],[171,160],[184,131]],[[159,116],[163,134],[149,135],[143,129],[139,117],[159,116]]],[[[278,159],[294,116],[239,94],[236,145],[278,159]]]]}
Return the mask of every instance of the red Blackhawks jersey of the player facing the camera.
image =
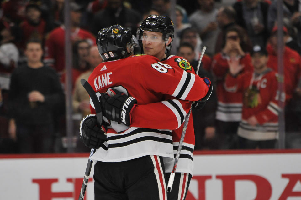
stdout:
{"type": "MultiPolygon", "coordinates": [[[[162,63],[170,66],[178,66],[186,72],[194,73],[190,63],[183,57],[171,55],[162,63]]],[[[171,98],[166,95],[165,101],[138,105],[132,112],[131,126],[142,126],[147,128],[168,128],[172,129],[172,141],[174,156],[177,153],[178,145],[183,131],[184,119],[188,113],[191,102],[171,98]],[[181,110],[181,111],[180,111],[181,110]]],[[[192,114],[187,125],[182,150],[177,163],[177,172],[193,172],[193,149],[195,144],[192,114]]],[[[172,172],[174,162],[165,163],[165,171],[172,172]]]]}

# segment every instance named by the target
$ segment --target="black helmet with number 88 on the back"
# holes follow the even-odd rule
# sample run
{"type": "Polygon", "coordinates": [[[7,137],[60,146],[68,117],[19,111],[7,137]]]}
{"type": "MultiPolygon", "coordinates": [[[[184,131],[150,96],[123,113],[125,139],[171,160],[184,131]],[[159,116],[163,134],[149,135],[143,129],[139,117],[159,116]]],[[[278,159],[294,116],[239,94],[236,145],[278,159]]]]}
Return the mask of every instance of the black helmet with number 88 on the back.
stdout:
{"type": "Polygon", "coordinates": [[[109,61],[130,56],[138,42],[129,29],[117,24],[101,29],[96,44],[103,61],[109,61]]]}

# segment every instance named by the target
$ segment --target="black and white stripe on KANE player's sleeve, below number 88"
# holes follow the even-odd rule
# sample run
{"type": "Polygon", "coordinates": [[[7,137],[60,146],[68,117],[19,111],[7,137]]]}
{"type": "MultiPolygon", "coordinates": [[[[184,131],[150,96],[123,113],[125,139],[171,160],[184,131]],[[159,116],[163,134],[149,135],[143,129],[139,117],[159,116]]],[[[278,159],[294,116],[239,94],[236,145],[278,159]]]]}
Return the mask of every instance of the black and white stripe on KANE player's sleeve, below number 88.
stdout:
{"type": "Polygon", "coordinates": [[[188,93],[190,92],[193,83],[195,81],[195,74],[187,73],[183,70],[182,78],[177,85],[176,90],[172,94],[172,96],[176,97],[177,99],[186,99],[188,93]]]}

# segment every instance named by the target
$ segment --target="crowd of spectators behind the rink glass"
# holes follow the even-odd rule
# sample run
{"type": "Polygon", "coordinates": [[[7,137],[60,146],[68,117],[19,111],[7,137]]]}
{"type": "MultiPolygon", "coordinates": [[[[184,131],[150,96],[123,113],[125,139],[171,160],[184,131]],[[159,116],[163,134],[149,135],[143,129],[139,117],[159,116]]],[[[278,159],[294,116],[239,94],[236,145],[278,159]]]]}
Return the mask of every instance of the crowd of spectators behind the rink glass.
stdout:
{"type": "MultiPolygon", "coordinates": [[[[285,101],[286,147],[301,147],[301,143],[296,144],[301,140],[300,2],[283,0],[283,27],[277,26],[277,0],[233,0],[232,5],[214,0],[176,2],[174,11],[169,0],[70,2],[75,130],[79,120],[89,113],[89,97],[79,80],[87,79],[102,62],[95,46],[98,31],[120,24],[135,35],[140,22],[147,16],[171,17],[174,12],[176,18],[172,20],[176,32],[172,48],[196,70],[201,49],[206,46],[199,74],[214,83],[213,94],[205,108],[193,111],[195,149],[276,148],[277,124],[272,129],[273,142],[268,145],[248,145],[252,137],[241,134],[240,130],[259,130],[262,134],[256,133],[256,140],[266,140],[262,129],[266,130],[266,124],[277,122],[281,109],[277,105],[279,99],[285,101]],[[277,76],[279,28],[284,33],[285,93],[281,94],[276,92],[277,80],[283,80],[277,76]],[[258,48],[261,54],[251,56],[258,48]],[[263,68],[263,64],[265,70],[254,70],[254,66],[263,68]],[[230,73],[233,69],[239,70],[230,73]],[[275,74],[276,78],[271,78],[270,74],[275,74]],[[246,76],[251,77],[251,81],[248,87],[242,87],[239,80],[246,76]],[[267,86],[272,94],[276,93],[268,100],[262,97],[267,86]],[[246,110],[253,114],[244,114],[246,110]]],[[[61,142],[66,137],[64,95],[61,93],[66,80],[64,0],[6,0],[0,5],[0,153],[66,151],[61,142]],[[37,59],[42,62],[32,62],[37,59]],[[47,85],[50,80],[53,89],[47,85]],[[57,83],[61,83],[60,87],[57,83]],[[49,91],[45,91],[45,87],[49,91]],[[42,116],[42,111],[48,115],[42,116]],[[25,134],[41,141],[26,141],[25,134]],[[21,145],[24,143],[28,145],[21,145]],[[29,147],[31,143],[35,148],[29,147]],[[48,148],[43,149],[41,144],[48,148]]],[[[136,53],[141,53],[140,48],[137,50],[136,53]]],[[[76,147],[75,151],[88,149],[76,147]]]]}

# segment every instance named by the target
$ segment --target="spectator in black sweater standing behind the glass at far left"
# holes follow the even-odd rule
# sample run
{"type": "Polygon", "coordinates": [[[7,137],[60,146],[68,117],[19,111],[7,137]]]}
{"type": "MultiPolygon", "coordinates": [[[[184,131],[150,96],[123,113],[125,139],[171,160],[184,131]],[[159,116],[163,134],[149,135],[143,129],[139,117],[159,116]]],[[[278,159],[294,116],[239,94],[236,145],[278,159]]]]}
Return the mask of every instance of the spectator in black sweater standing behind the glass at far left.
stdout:
{"type": "Polygon", "coordinates": [[[53,148],[52,110],[64,104],[64,93],[54,69],[41,62],[42,44],[26,44],[27,63],[11,76],[9,134],[19,153],[50,153],[53,148]]]}

